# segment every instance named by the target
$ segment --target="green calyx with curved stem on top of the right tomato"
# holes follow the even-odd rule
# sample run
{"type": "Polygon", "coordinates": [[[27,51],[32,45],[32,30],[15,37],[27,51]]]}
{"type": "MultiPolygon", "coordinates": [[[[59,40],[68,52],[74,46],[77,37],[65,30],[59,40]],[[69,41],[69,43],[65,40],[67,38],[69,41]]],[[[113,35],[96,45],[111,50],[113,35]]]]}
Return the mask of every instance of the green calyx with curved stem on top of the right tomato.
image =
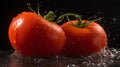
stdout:
{"type": "Polygon", "coordinates": [[[82,22],[80,15],[75,14],[75,13],[66,13],[66,14],[63,14],[63,15],[59,16],[57,22],[60,23],[64,19],[64,17],[66,17],[67,20],[69,22],[71,22],[72,25],[74,25],[74,26],[76,26],[78,28],[84,28],[84,27],[88,26],[91,22],[102,19],[102,18],[98,18],[98,19],[95,19],[95,20],[82,22]],[[77,19],[77,23],[74,23],[73,21],[71,21],[68,16],[74,16],[77,19]]]}

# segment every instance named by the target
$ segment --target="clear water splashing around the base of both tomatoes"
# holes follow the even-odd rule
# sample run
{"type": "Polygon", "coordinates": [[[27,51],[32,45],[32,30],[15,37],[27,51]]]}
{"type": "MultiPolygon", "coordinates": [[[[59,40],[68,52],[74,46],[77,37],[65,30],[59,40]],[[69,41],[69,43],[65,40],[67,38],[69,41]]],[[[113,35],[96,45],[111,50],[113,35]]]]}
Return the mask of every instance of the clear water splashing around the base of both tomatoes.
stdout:
{"type": "Polygon", "coordinates": [[[120,51],[114,48],[104,49],[100,53],[88,57],[30,58],[22,57],[17,53],[9,56],[14,65],[31,65],[37,67],[108,67],[120,60],[120,51]]]}

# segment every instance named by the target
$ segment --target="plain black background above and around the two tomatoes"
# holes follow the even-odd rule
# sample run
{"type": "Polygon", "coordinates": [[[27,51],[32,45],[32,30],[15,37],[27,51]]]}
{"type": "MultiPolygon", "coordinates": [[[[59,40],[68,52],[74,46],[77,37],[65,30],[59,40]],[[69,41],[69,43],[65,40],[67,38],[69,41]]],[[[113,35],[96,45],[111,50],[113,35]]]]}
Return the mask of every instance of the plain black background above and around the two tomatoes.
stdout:
{"type": "Polygon", "coordinates": [[[40,11],[56,11],[57,14],[74,12],[82,15],[83,19],[97,15],[104,17],[99,22],[108,34],[108,46],[120,47],[120,2],[115,0],[3,0],[0,2],[0,50],[12,49],[8,39],[8,27],[14,16],[22,11],[30,11],[27,3],[31,3],[33,9],[37,9],[40,3],[40,11]]]}

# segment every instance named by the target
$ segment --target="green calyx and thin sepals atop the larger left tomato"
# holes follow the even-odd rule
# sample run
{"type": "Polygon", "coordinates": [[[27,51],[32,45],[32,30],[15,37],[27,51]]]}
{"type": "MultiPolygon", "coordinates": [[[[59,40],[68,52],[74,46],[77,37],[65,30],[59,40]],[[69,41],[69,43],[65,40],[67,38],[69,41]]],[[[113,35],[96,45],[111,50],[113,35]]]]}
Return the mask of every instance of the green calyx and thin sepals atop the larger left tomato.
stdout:
{"type": "MultiPolygon", "coordinates": [[[[36,11],[34,11],[34,10],[30,7],[30,3],[27,3],[28,8],[29,8],[32,12],[37,13],[38,15],[41,16],[40,11],[39,11],[39,8],[40,8],[39,3],[37,3],[37,5],[38,5],[38,7],[37,7],[37,12],[36,12],[36,11]]],[[[55,19],[55,17],[56,17],[56,15],[55,15],[55,12],[53,12],[53,11],[49,11],[46,15],[43,16],[44,19],[46,19],[46,20],[48,20],[48,21],[50,21],[50,22],[52,22],[52,21],[55,19]]]]}

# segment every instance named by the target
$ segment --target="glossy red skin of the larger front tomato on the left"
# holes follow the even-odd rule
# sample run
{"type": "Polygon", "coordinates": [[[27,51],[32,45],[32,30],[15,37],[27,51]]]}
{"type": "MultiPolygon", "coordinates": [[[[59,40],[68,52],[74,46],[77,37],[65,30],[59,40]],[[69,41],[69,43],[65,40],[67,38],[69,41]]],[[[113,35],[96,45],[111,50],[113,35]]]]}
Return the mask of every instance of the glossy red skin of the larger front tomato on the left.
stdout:
{"type": "Polygon", "coordinates": [[[12,47],[22,56],[55,56],[61,52],[66,40],[60,26],[32,12],[22,12],[14,17],[8,32],[12,47]]]}

